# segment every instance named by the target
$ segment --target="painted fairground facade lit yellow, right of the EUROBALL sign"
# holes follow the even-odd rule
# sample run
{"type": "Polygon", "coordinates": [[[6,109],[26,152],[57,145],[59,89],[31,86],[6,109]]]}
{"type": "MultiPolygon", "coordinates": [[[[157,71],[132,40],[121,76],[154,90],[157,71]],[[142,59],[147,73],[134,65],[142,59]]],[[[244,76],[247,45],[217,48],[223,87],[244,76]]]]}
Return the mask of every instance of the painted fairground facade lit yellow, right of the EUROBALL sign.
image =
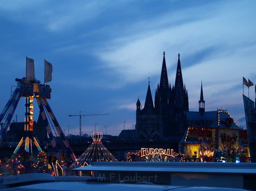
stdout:
{"type": "Polygon", "coordinates": [[[248,162],[247,131],[237,126],[227,110],[204,112],[201,116],[207,117],[211,121],[209,127],[189,126],[180,141],[179,151],[187,161],[204,161],[207,155],[206,162],[248,162]]]}

